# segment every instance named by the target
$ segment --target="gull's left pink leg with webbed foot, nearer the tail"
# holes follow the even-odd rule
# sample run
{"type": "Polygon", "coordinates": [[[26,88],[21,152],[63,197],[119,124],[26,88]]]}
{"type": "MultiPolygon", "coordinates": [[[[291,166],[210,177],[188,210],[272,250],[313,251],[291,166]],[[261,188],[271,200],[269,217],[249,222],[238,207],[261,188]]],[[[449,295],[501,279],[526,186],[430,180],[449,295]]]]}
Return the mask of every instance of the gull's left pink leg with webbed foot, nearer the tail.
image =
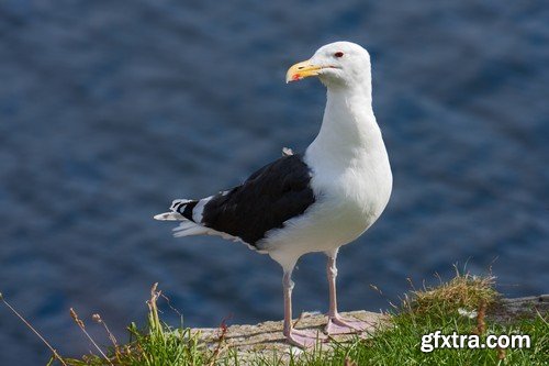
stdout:
{"type": "Polygon", "coordinates": [[[313,347],[317,342],[323,342],[326,336],[318,331],[296,330],[292,324],[292,273],[284,271],[284,336],[292,345],[302,348],[313,347]]]}

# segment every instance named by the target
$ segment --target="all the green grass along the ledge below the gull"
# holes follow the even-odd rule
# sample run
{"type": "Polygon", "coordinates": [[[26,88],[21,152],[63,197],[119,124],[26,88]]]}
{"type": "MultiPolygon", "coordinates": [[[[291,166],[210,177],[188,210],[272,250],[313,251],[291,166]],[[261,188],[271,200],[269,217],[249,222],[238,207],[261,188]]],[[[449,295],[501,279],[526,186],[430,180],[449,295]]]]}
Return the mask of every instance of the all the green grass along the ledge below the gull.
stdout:
{"type": "MultiPolygon", "coordinates": [[[[492,277],[473,277],[457,273],[448,282],[436,287],[413,290],[404,297],[401,308],[389,314],[390,322],[380,328],[367,340],[356,337],[351,342],[336,344],[332,350],[325,345],[301,353],[289,361],[281,355],[253,355],[239,359],[236,352],[223,347],[224,332],[221,332],[219,346],[205,350],[198,335],[182,324],[172,329],[163,323],[158,315],[156,286],[148,301],[148,320],[145,329],[135,324],[128,326],[130,342],[121,345],[105,326],[112,346],[104,351],[97,347],[97,354],[81,359],[52,359],[52,364],[70,366],[82,365],[548,365],[549,324],[548,314],[534,313],[531,317],[516,319],[512,323],[497,323],[491,320],[491,309],[497,307],[500,296],[493,289],[492,277]],[[469,317],[463,314],[470,313],[469,317]],[[485,340],[489,334],[528,334],[530,348],[506,350],[434,350],[421,351],[422,336],[440,330],[442,334],[479,334],[485,340]]],[[[102,323],[96,315],[96,320],[102,323]]],[[[85,331],[83,323],[76,313],[75,321],[85,331]]],[[[103,324],[104,325],[104,324],[103,324]]]]}

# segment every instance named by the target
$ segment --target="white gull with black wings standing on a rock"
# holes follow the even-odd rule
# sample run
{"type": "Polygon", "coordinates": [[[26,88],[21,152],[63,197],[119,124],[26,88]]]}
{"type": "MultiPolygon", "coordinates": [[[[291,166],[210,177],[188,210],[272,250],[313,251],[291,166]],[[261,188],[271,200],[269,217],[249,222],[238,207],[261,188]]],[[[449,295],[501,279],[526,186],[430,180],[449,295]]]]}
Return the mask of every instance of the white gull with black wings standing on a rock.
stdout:
{"type": "Polygon", "coordinates": [[[372,110],[370,55],[360,45],[335,42],[290,67],[287,82],[316,76],[327,89],[321,131],[303,154],[282,157],[242,185],[202,199],[178,199],[156,220],[180,221],[175,236],[219,235],[268,254],[283,270],[288,342],[310,347],[326,335],[292,325],[292,270],[313,252],[327,256],[328,335],[360,332],[366,323],[337,309],[339,247],[360,236],[381,215],[392,173],[372,110]]]}

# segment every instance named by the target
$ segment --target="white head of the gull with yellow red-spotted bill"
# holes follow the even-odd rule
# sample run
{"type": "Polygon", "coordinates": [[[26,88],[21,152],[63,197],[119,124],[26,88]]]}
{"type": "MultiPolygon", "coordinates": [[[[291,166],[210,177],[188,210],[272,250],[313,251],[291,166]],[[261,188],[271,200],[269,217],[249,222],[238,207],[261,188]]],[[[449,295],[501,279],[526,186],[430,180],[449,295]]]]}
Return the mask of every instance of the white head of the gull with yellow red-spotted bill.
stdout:
{"type": "Polygon", "coordinates": [[[370,54],[356,43],[335,42],[318,48],[313,57],[288,69],[285,82],[318,76],[329,89],[370,84],[370,54]]]}

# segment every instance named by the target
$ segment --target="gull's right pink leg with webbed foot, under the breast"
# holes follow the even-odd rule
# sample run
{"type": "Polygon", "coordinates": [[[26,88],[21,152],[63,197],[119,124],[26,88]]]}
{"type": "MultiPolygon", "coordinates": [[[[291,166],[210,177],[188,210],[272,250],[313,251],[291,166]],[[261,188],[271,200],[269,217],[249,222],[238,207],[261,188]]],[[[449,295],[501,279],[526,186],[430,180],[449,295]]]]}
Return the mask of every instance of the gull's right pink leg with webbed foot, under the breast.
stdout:
{"type": "Polygon", "coordinates": [[[329,311],[328,323],[326,324],[325,332],[327,334],[344,334],[344,333],[358,333],[365,331],[368,326],[366,322],[345,319],[339,315],[337,311],[337,296],[336,296],[336,267],[337,249],[328,254],[328,262],[326,265],[326,274],[328,278],[329,288],[329,311]]]}

